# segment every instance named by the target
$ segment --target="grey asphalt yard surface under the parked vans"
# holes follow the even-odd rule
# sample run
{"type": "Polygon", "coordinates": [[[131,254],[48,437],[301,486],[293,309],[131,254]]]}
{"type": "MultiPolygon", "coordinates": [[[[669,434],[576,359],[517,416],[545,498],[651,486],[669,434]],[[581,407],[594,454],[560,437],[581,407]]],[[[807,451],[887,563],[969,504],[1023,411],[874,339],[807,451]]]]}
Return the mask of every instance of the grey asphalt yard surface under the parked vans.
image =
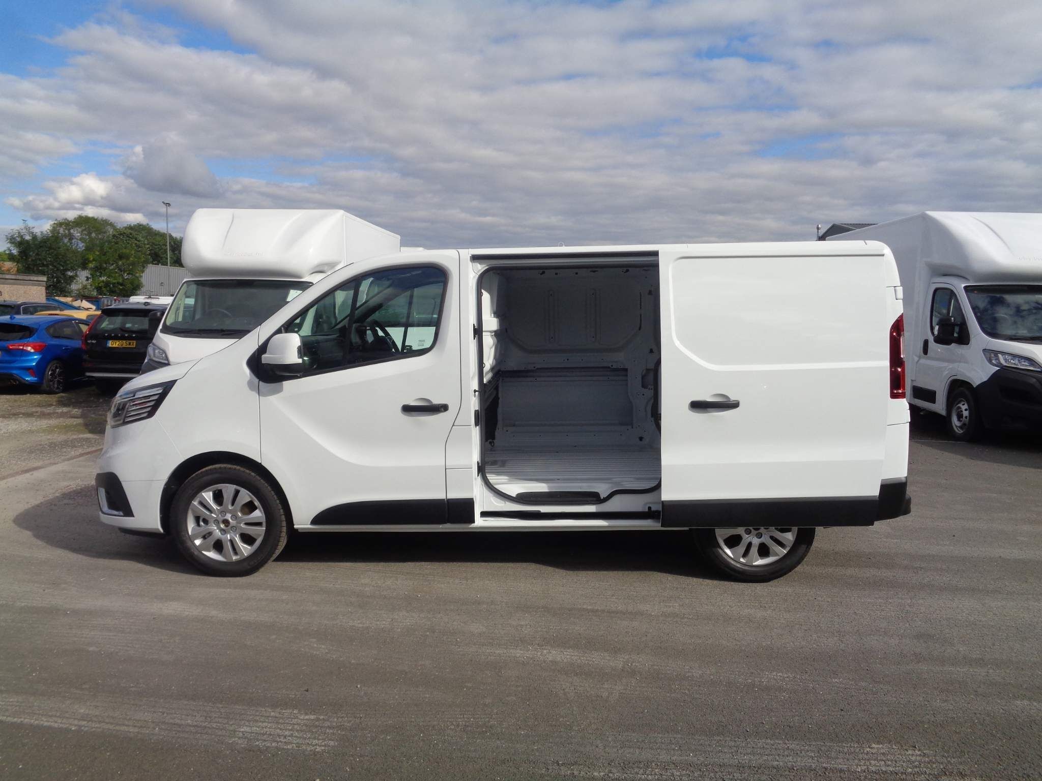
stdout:
{"type": "Polygon", "coordinates": [[[683,532],[297,536],[207,578],[5,435],[0,777],[1042,777],[1042,445],[914,438],[911,517],[747,585],[683,532]]]}

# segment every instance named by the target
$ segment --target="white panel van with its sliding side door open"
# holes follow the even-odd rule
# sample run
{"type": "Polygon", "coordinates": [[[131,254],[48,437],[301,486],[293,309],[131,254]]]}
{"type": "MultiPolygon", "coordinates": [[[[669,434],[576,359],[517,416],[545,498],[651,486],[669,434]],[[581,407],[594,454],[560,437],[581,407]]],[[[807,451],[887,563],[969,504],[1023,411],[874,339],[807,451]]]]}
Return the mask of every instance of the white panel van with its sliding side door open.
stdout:
{"type": "Polygon", "coordinates": [[[770,580],[816,527],[909,512],[901,324],[875,243],[370,258],[131,381],[100,519],[214,575],[291,526],[694,529],[770,580]]]}

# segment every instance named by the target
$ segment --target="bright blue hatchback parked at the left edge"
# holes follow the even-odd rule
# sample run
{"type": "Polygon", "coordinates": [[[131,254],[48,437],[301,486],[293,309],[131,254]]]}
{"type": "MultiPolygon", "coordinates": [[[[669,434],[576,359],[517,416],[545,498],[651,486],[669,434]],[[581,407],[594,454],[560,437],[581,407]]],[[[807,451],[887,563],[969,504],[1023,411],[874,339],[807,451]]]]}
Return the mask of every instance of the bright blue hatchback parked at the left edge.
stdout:
{"type": "Polygon", "coordinates": [[[55,314],[0,318],[0,381],[60,394],[83,374],[86,328],[81,320],[55,314]]]}

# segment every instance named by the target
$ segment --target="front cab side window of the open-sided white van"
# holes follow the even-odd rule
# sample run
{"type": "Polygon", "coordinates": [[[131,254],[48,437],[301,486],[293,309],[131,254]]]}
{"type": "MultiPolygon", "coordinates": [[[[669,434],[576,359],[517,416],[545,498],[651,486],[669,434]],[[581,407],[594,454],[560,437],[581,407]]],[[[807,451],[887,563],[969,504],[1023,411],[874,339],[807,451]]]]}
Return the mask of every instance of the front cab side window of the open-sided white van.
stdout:
{"type": "Polygon", "coordinates": [[[445,272],[388,269],[345,282],[282,329],[299,333],[304,376],[421,355],[435,346],[445,272]]]}

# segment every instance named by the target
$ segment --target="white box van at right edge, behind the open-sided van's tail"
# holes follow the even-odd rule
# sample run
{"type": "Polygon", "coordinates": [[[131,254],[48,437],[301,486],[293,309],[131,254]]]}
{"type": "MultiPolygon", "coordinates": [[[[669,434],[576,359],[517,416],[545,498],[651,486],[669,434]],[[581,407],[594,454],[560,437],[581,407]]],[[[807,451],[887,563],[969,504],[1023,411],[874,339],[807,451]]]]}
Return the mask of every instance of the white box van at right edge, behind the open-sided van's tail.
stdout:
{"type": "Polygon", "coordinates": [[[830,237],[866,240],[900,273],[910,403],[957,439],[1042,431],[1042,215],[924,211],[830,237]]]}

